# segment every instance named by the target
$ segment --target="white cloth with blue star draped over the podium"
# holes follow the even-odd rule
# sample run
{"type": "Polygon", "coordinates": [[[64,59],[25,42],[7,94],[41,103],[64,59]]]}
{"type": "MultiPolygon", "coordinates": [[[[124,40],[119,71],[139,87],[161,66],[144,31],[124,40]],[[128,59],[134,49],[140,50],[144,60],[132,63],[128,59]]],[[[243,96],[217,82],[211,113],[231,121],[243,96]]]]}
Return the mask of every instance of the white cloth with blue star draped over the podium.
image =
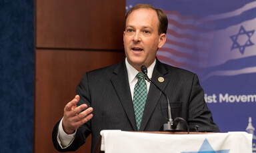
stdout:
{"type": "Polygon", "coordinates": [[[101,151],[105,153],[251,153],[253,138],[247,132],[152,134],[121,130],[102,130],[101,136],[101,151]]]}

